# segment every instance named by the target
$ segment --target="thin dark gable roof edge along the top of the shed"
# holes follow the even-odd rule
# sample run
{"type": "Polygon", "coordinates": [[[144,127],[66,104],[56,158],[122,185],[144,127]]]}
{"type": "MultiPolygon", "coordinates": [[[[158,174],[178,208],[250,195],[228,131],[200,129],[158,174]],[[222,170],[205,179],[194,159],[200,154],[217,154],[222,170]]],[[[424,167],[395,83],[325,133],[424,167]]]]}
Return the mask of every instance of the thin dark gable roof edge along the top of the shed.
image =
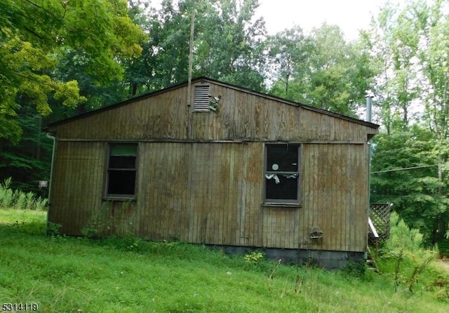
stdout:
{"type": "MultiPolygon", "coordinates": [[[[197,77],[196,79],[192,79],[192,84],[198,83],[200,81],[208,82],[210,84],[216,84],[216,85],[223,86],[223,87],[229,88],[229,89],[234,89],[235,91],[241,91],[243,93],[256,95],[256,96],[258,96],[260,98],[274,100],[276,102],[280,102],[280,103],[283,103],[285,105],[292,105],[292,106],[295,106],[295,107],[301,107],[302,109],[307,109],[307,110],[310,110],[312,112],[317,112],[317,113],[325,114],[325,115],[328,115],[328,116],[333,116],[333,117],[336,117],[337,119],[344,119],[344,120],[347,120],[347,121],[354,122],[356,124],[361,124],[363,126],[368,126],[369,128],[373,128],[374,130],[377,130],[377,128],[379,128],[379,125],[370,123],[368,121],[363,121],[361,119],[354,119],[353,117],[350,117],[350,116],[346,116],[346,115],[343,115],[343,114],[338,114],[338,113],[335,113],[335,112],[330,112],[330,111],[325,110],[325,109],[319,109],[319,108],[316,108],[316,107],[311,107],[309,105],[303,105],[300,102],[294,102],[294,101],[291,101],[291,100],[286,100],[286,99],[283,99],[283,98],[276,97],[274,95],[268,95],[266,93],[260,93],[260,92],[257,92],[257,91],[250,90],[248,88],[236,86],[236,85],[225,83],[225,82],[222,82],[222,81],[217,81],[216,79],[210,79],[210,78],[208,78],[206,76],[200,76],[200,77],[197,77]]],[[[177,88],[185,87],[185,86],[187,86],[187,84],[188,84],[187,81],[185,81],[185,82],[183,82],[181,84],[176,84],[176,85],[173,85],[173,86],[170,86],[170,87],[167,87],[167,88],[163,88],[163,89],[161,89],[159,91],[153,91],[151,93],[145,93],[145,94],[139,95],[139,96],[137,96],[135,98],[130,98],[128,100],[124,100],[124,101],[118,102],[118,103],[116,103],[114,105],[109,105],[107,107],[102,107],[100,109],[95,109],[95,110],[93,110],[91,112],[86,112],[86,113],[83,113],[83,114],[79,114],[79,115],[76,115],[76,116],[69,117],[67,119],[62,119],[60,121],[55,121],[55,122],[53,122],[51,124],[48,124],[45,128],[43,128],[43,130],[44,131],[48,131],[48,128],[53,128],[55,126],[60,126],[62,124],[66,124],[66,123],[68,123],[70,121],[75,121],[77,119],[83,119],[83,118],[85,118],[87,116],[92,116],[94,114],[101,114],[102,112],[109,111],[109,110],[115,109],[117,107],[122,107],[124,105],[128,105],[130,103],[133,103],[133,102],[136,102],[136,101],[139,101],[139,100],[143,100],[143,99],[146,99],[146,98],[151,98],[151,97],[153,97],[155,95],[160,95],[161,93],[168,93],[168,92],[173,91],[173,90],[175,90],[177,88]]]]}

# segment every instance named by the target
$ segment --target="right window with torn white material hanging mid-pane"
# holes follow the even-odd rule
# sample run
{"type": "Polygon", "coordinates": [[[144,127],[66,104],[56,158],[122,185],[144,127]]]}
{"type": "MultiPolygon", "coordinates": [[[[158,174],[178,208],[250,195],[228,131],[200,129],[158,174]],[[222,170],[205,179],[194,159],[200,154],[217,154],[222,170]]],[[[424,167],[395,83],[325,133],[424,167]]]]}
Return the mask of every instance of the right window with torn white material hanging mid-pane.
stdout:
{"type": "Polygon", "coordinates": [[[299,204],[301,145],[273,144],[265,147],[265,201],[299,204]]]}

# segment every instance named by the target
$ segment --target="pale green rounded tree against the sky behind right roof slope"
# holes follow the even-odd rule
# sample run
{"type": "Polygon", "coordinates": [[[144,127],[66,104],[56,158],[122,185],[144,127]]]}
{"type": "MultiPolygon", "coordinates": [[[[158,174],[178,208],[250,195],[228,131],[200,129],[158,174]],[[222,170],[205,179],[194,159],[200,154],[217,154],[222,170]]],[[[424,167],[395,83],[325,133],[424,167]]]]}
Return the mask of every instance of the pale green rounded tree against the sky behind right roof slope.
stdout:
{"type": "Polygon", "coordinates": [[[316,48],[310,62],[307,102],[355,116],[373,76],[367,56],[355,44],[347,43],[335,25],[321,25],[312,31],[311,38],[316,48]]]}

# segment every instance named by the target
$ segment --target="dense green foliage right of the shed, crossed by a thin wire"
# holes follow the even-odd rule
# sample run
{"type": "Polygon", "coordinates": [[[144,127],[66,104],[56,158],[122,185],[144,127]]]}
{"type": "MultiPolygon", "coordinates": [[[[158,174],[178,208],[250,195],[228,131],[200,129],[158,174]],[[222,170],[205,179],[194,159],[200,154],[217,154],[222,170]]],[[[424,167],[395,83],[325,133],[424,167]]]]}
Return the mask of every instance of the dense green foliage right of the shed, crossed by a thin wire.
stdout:
{"type": "Polygon", "coordinates": [[[445,230],[438,220],[449,217],[449,198],[439,193],[442,182],[431,132],[416,126],[381,133],[373,143],[371,202],[393,203],[410,227],[420,229],[426,246],[440,240],[445,230]]]}

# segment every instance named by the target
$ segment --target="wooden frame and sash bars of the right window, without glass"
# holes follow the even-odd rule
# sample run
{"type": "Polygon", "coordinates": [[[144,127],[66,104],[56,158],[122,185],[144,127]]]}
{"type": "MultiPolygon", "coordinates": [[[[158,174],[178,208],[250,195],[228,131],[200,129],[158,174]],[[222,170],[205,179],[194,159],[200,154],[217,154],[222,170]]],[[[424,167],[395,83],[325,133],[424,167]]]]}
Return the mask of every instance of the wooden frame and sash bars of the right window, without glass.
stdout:
{"type": "Polygon", "coordinates": [[[263,201],[264,206],[293,206],[298,207],[301,206],[301,187],[302,187],[302,144],[299,142],[267,142],[264,145],[264,167],[263,167],[263,175],[264,175],[264,190],[263,190],[263,201]],[[268,171],[268,149],[270,146],[274,145],[283,145],[283,146],[297,146],[297,171],[268,171]],[[271,174],[279,174],[279,175],[297,175],[297,199],[270,199],[267,198],[267,177],[266,175],[271,174]]]}

